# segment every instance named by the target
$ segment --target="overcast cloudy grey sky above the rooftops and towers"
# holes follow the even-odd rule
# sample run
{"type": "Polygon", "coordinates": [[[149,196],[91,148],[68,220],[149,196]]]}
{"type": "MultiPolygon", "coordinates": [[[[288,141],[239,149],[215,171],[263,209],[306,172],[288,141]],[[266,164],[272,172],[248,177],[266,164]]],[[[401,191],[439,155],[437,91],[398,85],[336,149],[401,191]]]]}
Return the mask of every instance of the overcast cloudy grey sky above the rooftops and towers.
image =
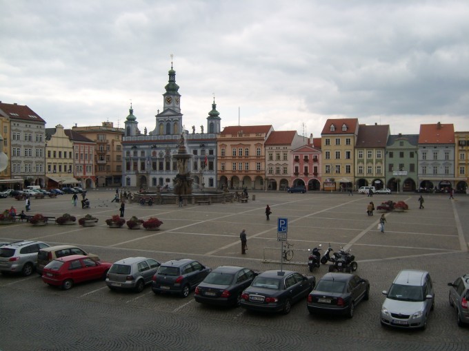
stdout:
{"type": "Polygon", "coordinates": [[[0,0],[0,100],[46,127],[155,127],[173,54],[183,125],[328,118],[469,131],[469,1],[0,0]]]}

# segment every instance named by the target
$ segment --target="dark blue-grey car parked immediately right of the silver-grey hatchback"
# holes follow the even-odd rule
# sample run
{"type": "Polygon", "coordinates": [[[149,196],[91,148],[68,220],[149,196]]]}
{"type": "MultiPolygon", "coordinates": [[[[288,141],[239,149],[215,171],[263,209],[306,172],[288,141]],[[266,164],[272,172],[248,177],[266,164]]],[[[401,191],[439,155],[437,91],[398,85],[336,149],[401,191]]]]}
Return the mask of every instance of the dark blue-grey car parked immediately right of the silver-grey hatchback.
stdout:
{"type": "Polygon", "coordinates": [[[159,266],[152,278],[152,290],[155,294],[173,292],[188,297],[190,290],[194,290],[210,271],[194,259],[172,259],[159,266]]]}

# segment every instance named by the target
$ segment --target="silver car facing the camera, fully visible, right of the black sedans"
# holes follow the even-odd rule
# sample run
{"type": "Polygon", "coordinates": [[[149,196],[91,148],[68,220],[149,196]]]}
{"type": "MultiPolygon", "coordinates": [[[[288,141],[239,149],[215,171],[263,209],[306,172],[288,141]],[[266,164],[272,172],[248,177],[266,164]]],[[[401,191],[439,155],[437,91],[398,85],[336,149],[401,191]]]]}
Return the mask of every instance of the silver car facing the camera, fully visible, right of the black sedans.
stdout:
{"type": "Polygon", "coordinates": [[[381,307],[381,325],[397,328],[427,326],[430,310],[435,308],[435,291],[430,274],[424,270],[401,270],[381,307]]]}

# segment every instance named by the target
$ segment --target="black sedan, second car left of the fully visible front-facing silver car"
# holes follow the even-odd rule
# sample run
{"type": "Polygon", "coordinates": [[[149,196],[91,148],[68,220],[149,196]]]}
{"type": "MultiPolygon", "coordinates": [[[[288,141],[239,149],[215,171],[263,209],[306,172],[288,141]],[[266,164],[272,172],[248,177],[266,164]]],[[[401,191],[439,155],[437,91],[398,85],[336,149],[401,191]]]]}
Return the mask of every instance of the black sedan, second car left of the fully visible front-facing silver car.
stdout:
{"type": "Polygon", "coordinates": [[[315,287],[316,278],[291,270],[266,270],[241,295],[241,307],[248,310],[290,312],[292,304],[315,287]]]}

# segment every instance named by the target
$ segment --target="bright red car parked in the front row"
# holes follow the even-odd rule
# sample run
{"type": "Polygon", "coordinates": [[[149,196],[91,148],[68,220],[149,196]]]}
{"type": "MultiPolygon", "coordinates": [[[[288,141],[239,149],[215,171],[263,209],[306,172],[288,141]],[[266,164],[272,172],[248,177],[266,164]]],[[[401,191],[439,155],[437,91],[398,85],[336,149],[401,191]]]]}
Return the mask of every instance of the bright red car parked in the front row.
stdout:
{"type": "Polygon", "coordinates": [[[61,257],[43,268],[42,280],[46,284],[61,286],[63,290],[68,290],[73,284],[82,281],[106,279],[111,266],[110,262],[96,262],[83,255],[61,257]]]}

